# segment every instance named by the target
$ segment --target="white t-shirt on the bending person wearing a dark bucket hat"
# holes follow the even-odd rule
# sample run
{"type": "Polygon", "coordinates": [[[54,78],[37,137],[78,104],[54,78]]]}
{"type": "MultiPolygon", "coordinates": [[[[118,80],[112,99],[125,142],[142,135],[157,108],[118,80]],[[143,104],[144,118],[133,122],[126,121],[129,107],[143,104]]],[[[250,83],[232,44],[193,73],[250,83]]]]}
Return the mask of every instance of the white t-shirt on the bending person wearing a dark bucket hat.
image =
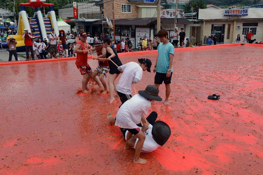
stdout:
{"type": "Polygon", "coordinates": [[[142,114],[147,115],[151,102],[139,94],[123,103],[116,115],[115,125],[122,128],[138,128],[142,114]]]}

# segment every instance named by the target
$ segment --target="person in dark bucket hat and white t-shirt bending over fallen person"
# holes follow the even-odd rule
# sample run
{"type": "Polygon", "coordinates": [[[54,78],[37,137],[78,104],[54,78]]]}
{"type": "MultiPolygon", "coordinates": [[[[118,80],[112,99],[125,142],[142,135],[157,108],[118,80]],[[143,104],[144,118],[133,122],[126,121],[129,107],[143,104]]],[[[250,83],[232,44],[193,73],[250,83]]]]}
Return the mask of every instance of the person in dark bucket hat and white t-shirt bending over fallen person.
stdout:
{"type": "Polygon", "coordinates": [[[147,160],[140,158],[143,143],[146,138],[143,132],[148,130],[147,122],[142,115],[147,115],[151,107],[151,101],[162,101],[162,98],[158,94],[159,89],[155,85],[148,85],[145,90],[139,90],[138,94],[134,95],[130,100],[127,100],[118,110],[116,117],[112,117],[110,113],[107,115],[110,124],[126,128],[129,131],[126,135],[124,149],[131,148],[128,143],[134,140],[135,137],[138,137],[133,159],[133,162],[137,164],[147,163],[147,160]],[[142,130],[137,126],[140,121],[142,121],[143,124],[142,130]],[[132,140],[129,141],[130,139],[132,140]]]}

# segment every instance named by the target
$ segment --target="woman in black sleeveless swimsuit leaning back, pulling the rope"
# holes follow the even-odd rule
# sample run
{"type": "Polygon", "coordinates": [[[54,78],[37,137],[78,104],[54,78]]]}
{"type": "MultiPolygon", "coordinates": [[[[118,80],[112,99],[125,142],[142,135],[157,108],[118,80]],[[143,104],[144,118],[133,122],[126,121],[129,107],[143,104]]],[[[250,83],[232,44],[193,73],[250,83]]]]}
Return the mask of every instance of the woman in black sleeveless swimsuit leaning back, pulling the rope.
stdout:
{"type": "MultiPolygon", "coordinates": [[[[107,50],[106,58],[111,59],[115,64],[117,64],[118,66],[121,66],[122,65],[121,60],[119,59],[115,50],[110,47],[110,44],[111,44],[111,40],[109,38],[104,38],[102,40],[102,45],[107,50]]],[[[120,71],[118,71],[118,67],[112,63],[112,61],[109,60],[110,71],[109,71],[109,77],[108,77],[108,85],[109,85],[110,98],[111,98],[110,103],[112,103],[115,100],[114,91],[117,94],[116,84],[115,84],[114,80],[121,73],[120,71]]]]}

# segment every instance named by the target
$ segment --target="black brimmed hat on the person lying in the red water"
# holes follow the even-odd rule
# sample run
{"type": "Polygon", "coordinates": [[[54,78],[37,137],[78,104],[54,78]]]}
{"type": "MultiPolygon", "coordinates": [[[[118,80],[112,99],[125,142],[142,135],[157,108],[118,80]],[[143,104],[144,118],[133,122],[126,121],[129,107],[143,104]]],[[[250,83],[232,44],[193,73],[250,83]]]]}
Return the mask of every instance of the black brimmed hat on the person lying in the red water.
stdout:
{"type": "Polygon", "coordinates": [[[171,129],[167,123],[156,121],[152,126],[152,136],[155,142],[163,146],[171,135],[171,129]]]}

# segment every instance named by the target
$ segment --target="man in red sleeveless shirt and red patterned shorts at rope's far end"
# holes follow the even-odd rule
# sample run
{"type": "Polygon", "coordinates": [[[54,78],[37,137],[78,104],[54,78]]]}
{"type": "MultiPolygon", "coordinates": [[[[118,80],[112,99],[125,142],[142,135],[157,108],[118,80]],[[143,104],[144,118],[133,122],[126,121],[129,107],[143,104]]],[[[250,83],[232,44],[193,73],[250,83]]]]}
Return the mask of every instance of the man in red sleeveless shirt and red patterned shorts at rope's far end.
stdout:
{"type": "MultiPolygon", "coordinates": [[[[75,46],[74,52],[77,53],[77,60],[75,62],[77,68],[79,69],[81,75],[83,75],[82,79],[82,92],[88,93],[86,86],[88,83],[88,79],[91,77],[92,70],[88,64],[88,53],[92,54],[90,50],[92,48],[91,45],[87,43],[87,34],[85,31],[80,32],[80,39],[75,46]]],[[[100,86],[99,79],[94,77],[97,84],[100,86]]]]}

